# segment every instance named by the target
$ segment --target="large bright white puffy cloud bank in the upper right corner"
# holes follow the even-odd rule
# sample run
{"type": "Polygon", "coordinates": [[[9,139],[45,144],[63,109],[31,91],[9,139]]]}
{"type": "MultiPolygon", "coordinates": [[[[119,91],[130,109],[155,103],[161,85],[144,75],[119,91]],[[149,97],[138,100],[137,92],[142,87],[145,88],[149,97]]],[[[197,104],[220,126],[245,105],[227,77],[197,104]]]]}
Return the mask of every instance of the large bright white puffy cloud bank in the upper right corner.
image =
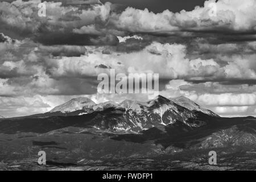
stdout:
{"type": "Polygon", "coordinates": [[[205,1],[204,7],[195,7],[193,11],[172,13],[169,10],[154,14],[147,9],[137,10],[128,7],[121,14],[112,16],[112,23],[122,30],[131,32],[169,33],[178,30],[189,31],[255,31],[254,0],[241,2],[222,0],[205,1]],[[211,16],[212,4],[216,6],[216,16],[211,16]]]}

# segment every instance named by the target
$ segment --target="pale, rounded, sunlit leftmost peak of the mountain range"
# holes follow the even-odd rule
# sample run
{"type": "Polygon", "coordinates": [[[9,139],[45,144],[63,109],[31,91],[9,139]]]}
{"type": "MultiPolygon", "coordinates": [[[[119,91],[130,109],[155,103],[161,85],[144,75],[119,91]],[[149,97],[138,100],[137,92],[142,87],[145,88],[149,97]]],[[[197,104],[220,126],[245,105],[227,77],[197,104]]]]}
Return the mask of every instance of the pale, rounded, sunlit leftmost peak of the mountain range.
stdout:
{"type": "Polygon", "coordinates": [[[86,97],[73,98],[72,100],[53,108],[50,113],[60,111],[61,113],[70,113],[76,110],[92,109],[96,104],[86,97]]]}

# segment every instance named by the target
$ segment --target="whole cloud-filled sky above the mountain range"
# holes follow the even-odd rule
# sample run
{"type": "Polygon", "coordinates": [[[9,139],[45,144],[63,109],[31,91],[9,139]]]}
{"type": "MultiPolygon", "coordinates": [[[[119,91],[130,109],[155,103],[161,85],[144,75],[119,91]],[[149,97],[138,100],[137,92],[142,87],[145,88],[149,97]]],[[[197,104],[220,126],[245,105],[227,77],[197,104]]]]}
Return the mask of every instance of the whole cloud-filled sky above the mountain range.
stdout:
{"type": "Polygon", "coordinates": [[[160,75],[160,94],[184,95],[222,116],[256,115],[255,0],[0,0],[0,115],[43,113],[97,94],[97,75],[160,75]],[[43,2],[43,1],[42,1],[43,2]],[[211,14],[216,5],[216,14],[211,14]]]}

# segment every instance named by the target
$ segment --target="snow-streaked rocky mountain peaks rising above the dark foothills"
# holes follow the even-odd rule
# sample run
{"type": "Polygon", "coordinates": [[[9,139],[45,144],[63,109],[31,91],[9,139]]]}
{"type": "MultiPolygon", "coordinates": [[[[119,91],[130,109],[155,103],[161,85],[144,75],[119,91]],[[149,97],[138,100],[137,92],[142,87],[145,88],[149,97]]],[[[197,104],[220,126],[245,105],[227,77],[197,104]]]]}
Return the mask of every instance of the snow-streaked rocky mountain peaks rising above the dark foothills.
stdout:
{"type": "MultiPolygon", "coordinates": [[[[200,127],[205,125],[205,122],[199,118],[200,114],[219,117],[183,96],[170,99],[158,96],[148,102],[125,100],[119,104],[113,101],[95,104],[89,98],[80,97],[56,106],[43,115],[84,115],[86,118],[93,115],[92,118],[86,120],[99,129],[138,132],[154,126],[167,126],[176,122],[184,123],[188,127],[200,127]]],[[[42,117],[43,115],[37,116],[42,117]]]]}

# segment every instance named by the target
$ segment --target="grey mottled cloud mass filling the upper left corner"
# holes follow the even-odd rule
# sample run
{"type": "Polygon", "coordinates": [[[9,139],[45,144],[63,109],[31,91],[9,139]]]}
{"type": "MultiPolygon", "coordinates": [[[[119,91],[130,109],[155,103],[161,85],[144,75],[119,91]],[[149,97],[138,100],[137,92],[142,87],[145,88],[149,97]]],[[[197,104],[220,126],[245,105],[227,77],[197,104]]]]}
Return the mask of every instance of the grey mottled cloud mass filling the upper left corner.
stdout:
{"type": "MultiPolygon", "coordinates": [[[[72,39],[84,38],[79,44],[93,44],[90,38],[93,34],[76,35],[79,28],[86,27],[92,30],[91,24],[106,23],[110,14],[110,3],[92,3],[89,8],[81,9],[76,6],[62,6],[61,2],[44,2],[46,4],[47,17],[38,16],[38,5],[40,0],[0,2],[0,31],[11,30],[13,34],[27,37],[44,44],[52,44],[51,39],[55,37],[55,44],[74,44],[72,39]],[[16,17],[19,17],[17,19],[16,17]],[[47,35],[48,34],[48,35],[47,35]],[[61,39],[65,38],[62,42],[61,39]],[[51,38],[51,39],[50,39],[51,38]]],[[[84,30],[85,28],[82,28],[84,30]]],[[[11,33],[9,31],[9,34],[11,33]]],[[[92,33],[92,32],[90,32],[92,33]]]]}

